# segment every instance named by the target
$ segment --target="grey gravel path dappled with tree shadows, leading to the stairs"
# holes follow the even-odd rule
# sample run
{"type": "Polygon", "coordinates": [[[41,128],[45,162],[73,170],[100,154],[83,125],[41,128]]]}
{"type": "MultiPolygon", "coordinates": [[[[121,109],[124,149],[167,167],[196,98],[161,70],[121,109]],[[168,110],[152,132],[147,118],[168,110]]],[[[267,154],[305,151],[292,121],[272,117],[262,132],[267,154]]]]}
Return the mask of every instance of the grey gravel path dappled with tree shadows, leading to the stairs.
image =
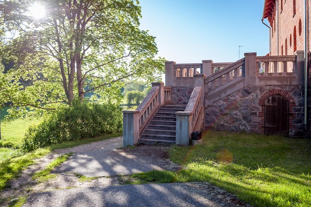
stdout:
{"type": "Polygon", "coordinates": [[[250,207],[208,183],[122,185],[121,177],[133,173],[181,169],[168,159],[169,146],[122,145],[121,137],[57,149],[24,170],[0,197],[27,195],[24,207],[250,207]],[[44,183],[31,179],[34,172],[69,152],[75,154],[52,172],[55,179],[44,183]],[[95,178],[80,181],[78,175],[95,178]]]}

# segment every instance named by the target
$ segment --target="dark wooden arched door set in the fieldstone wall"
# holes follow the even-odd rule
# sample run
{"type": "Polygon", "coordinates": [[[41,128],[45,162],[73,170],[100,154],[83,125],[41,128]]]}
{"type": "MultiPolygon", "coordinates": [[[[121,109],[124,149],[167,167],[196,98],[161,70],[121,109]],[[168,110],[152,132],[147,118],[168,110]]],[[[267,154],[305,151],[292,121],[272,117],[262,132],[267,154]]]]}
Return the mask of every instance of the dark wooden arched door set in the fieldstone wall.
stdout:
{"type": "Polygon", "coordinates": [[[283,135],[289,133],[289,104],[280,96],[270,96],[265,102],[265,135],[283,135]]]}

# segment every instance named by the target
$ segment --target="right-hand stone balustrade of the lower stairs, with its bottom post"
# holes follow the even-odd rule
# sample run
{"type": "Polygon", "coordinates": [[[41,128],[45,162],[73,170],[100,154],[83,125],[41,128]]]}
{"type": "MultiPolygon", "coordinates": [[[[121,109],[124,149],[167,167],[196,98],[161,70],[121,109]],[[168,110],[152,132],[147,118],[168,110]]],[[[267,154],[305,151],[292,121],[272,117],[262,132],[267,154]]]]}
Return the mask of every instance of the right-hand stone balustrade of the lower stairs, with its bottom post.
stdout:
{"type": "Polygon", "coordinates": [[[191,133],[195,129],[200,130],[203,112],[202,87],[196,86],[191,94],[185,111],[176,112],[176,144],[189,145],[191,133]]]}

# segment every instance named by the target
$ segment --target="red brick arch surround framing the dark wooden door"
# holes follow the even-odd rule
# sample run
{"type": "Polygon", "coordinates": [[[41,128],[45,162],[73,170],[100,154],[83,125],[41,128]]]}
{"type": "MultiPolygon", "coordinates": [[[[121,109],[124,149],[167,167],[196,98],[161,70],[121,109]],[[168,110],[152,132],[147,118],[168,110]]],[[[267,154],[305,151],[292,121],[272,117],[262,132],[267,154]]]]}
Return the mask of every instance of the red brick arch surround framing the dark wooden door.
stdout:
{"type": "Polygon", "coordinates": [[[296,119],[296,113],[293,113],[293,108],[296,106],[295,98],[290,94],[289,92],[282,90],[282,89],[271,89],[262,94],[262,96],[259,98],[258,105],[261,106],[261,111],[258,113],[258,118],[261,118],[261,122],[258,124],[259,129],[261,130],[261,134],[265,133],[265,103],[266,100],[274,95],[279,95],[285,98],[288,101],[289,106],[289,113],[290,113],[290,119],[289,119],[289,130],[293,130],[293,119],[296,119]]]}

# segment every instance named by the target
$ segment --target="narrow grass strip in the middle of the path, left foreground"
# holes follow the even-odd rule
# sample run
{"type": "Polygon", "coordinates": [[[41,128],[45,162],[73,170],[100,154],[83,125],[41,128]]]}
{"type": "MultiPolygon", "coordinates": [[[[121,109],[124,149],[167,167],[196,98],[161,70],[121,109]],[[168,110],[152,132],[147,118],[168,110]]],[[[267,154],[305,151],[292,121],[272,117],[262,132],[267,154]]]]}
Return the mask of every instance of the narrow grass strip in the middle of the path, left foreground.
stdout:
{"type": "Polygon", "coordinates": [[[69,157],[71,157],[74,153],[67,153],[60,155],[57,157],[54,161],[52,161],[45,169],[35,173],[32,176],[33,180],[37,180],[39,183],[47,181],[50,178],[54,178],[56,175],[51,175],[51,171],[55,169],[55,167],[61,165],[63,162],[65,162],[69,157]]]}

